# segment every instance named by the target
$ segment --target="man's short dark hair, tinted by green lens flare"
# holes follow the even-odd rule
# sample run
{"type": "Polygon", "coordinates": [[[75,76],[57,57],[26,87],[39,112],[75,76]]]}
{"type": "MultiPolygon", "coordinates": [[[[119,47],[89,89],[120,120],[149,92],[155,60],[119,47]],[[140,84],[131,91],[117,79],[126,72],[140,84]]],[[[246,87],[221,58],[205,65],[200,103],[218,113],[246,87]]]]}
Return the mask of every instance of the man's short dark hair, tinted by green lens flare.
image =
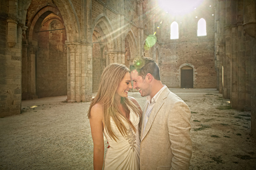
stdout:
{"type": "Polygon", "coordinates": [[[130,65],[131,71],[135,69],[143,79],[150,73],[154,79],[160,80],[160,69],[154,59],[141,56],[140,59],[134,60],[133,64],[130,65]]]}

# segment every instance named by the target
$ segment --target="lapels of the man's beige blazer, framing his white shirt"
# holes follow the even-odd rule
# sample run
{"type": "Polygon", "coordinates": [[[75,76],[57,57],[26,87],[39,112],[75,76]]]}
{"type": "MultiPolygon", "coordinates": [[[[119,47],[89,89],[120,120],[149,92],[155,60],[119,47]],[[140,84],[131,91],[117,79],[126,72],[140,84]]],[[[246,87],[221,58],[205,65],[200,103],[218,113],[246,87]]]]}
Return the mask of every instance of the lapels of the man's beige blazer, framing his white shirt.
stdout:
{"type": "Polygon", "coordinates": [[[154,122],[154,119],[155,119],[158,111],[160,110],[160,108],[164,104],[163,99],[165,99],[169,93],[170,93],[170,91],[166,87],[166,89],[164,89],[164,91],[160,94],[159,98],[157,99],[156,104],[154,105],[154,108],[152,109],[152,111],[150,113],[150,116],[148,118],[148,122],[147,122],[146,126],[144,125],[144,117],[145,117],[145,112],[147,110],[148,105],[146,105],[146,107],[143,109],[143,119],[142,119],[143,120],[143,127],[141,129],[141,140],[140,141],[142,141],[145,138],[145,136],[147,135],[152,123],[154,122]],[[143,132],[144,126],[145,126],[145,130],[143,132]]]}

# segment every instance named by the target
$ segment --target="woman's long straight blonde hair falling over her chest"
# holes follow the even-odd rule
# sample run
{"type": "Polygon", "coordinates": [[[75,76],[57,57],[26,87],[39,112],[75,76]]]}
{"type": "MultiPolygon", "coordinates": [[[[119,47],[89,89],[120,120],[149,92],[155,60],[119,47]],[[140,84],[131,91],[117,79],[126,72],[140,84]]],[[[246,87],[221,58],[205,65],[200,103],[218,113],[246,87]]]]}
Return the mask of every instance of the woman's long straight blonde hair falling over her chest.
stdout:
{"type": "MultiPolygon", "coordinates": [[[[90,108],[87,114],[88,118],[90,119],[91,108],[94,105],[96,105],[96,103],[100,103],[104,105],[104,123],[105,123],[106,132],[115,141],[117,137],[111,129],[111,124],[110,124],[111,118],[113,119],[113,121],[116,124],[116,127],[118,128],[118,130],[123,136],[127,135],[126,127],[124,125],[123,120],[133,128],[134,132],[136,132],[134,125],[132,125],[131,121],[121,113],[118,103],[116,103],[114,100],[116,89],[119,83],[125,77],[125,74],[128,73],[129,71],[130,70],[125,65],[117,64],[117,63],[108,65],[104,69],[100,83],[99,83],[99,90],[95,98],[92,99],[92,102],[90,104],[90,108]]],[[[134,111],[134,113],[137,113],[137,115],[141,117],[141,111],[137,108],[134,102],[132,102],[131,99],[129,99],[128,97],[121,97],[121,104],[126,113],[129,113],[131,109],[132,111],[134,111]]]]}

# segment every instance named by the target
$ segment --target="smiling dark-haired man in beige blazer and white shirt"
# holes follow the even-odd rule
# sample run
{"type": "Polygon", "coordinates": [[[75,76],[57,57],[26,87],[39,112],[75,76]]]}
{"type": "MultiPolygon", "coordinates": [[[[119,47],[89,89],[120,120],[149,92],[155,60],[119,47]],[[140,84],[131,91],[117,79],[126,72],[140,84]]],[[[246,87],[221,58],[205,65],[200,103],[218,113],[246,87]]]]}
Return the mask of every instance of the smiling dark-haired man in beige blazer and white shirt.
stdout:
{"type": "Polygon", "coordinates": [[[192,156],[189,107],[162,84],[153,59],[142,56],[130,70],[133,88],[147,99],[142,115],[140,169],[188,170],[192,156]]]}

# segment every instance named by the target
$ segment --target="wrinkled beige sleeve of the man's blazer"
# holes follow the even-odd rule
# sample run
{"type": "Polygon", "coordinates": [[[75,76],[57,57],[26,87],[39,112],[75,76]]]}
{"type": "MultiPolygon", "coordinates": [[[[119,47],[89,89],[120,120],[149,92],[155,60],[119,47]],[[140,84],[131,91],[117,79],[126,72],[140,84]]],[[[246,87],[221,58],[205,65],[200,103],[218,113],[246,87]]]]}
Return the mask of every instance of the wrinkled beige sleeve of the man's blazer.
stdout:
{"type": "Polygon", "coordinates": [[[173,154],[171,170],[189,169],[192,156],[190,117],[189,107],[182,100],[175,102],[168,114],[168,132],[173,154]]]}

